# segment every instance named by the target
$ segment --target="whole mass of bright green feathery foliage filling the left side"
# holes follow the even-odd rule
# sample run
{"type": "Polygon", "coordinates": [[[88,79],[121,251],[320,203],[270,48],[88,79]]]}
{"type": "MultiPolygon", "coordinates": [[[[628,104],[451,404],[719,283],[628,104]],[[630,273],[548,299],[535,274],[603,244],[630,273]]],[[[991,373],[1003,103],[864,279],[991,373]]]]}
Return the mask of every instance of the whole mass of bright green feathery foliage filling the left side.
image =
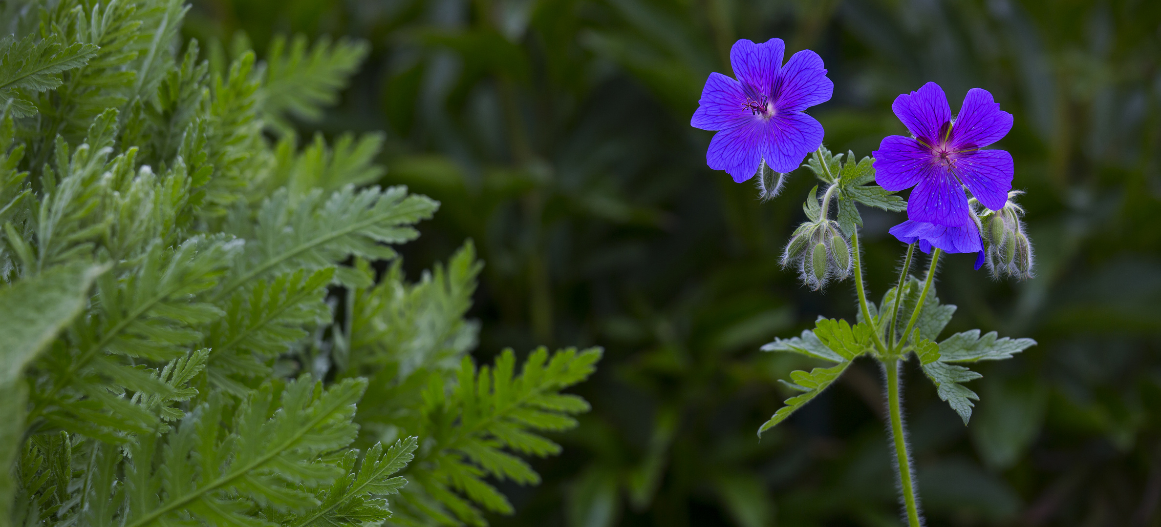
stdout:
{"type": "Polygon", "coordinates": [[[0,38],[0,527],[511,511],[483,478],[536,482],[517,454],[558,451],[536,432],[587,409],[558,391],[598,352],[475,369],[470,243],[408,281],[391,246],[439,204],[374,185],[382,134],[300,148],[366,44],[215,72],[180,0],[27,7],[0,38]]]}

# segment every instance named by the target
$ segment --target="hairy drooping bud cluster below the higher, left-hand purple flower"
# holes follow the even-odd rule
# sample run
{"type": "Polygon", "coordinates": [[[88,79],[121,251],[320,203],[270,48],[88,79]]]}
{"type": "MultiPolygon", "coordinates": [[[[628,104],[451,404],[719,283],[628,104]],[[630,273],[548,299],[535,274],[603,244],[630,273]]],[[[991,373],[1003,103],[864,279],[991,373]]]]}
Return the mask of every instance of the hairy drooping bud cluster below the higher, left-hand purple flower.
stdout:
{"type": "Polygon", "coordinates": [[[794,230],[780,263],[798,265],[802,281],[817,291],[851,275],[851,246],[836,221],[807,221],[794,230]]]}

